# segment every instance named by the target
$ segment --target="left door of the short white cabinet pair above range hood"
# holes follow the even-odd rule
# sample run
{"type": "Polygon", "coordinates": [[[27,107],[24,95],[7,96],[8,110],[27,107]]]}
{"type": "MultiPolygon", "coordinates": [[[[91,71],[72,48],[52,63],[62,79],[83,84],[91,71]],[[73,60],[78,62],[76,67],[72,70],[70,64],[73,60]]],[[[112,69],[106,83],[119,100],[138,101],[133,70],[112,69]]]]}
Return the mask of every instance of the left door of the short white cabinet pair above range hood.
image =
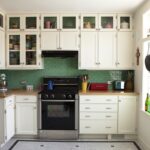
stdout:
{"type": "Polygon", "coordinates": [[[59,32],[42,32],[41,49],[57,50],[59,48],[59,32]]]}

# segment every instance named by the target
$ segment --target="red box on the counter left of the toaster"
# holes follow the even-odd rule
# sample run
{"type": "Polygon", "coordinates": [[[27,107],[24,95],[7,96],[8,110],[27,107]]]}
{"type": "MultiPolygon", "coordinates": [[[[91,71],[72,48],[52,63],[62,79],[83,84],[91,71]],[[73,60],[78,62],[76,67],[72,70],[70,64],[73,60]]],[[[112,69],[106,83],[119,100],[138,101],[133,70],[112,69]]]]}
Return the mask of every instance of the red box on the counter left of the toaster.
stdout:
{"type": "Polygon", "coordinates": [[[91,83],[90,90],[107,91],[108,84],[107,83],[91,83]]]}

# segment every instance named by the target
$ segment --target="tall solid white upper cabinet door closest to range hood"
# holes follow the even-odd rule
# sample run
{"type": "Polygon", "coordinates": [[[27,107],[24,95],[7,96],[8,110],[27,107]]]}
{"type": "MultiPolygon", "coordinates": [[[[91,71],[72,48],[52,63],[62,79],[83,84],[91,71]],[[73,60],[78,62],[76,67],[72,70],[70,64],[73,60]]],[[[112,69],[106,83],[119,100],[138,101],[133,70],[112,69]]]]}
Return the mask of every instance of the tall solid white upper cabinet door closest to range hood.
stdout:
{"type": "Polygon", "coordinates": [[[94,69],[97,68],[98,63],[98,35],[97,32],[82,32],[81,33],[81,56],[80,68],[81,69],[94,69]]]}

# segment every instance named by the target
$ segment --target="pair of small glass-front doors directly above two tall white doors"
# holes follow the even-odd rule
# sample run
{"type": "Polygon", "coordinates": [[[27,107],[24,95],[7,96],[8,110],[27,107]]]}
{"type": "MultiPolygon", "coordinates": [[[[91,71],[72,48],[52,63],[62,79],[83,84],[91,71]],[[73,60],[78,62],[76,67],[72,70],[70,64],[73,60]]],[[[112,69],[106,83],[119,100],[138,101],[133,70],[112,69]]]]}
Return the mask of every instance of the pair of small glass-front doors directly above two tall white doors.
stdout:
{"type": "Polygon", "coordinates": [[[116,30],[115,14],[82,14],[82,31],[114,31],[116,30]]]}

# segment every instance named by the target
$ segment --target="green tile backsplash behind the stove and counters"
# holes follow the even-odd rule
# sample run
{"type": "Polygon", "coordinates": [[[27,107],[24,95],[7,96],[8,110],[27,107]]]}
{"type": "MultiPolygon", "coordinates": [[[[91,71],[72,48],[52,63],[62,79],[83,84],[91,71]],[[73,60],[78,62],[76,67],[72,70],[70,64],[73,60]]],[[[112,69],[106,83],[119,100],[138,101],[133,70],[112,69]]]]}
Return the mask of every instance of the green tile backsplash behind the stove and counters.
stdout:
{"type": "Polygon", "coordinates": [[[127,71],[89,71],[78,70],[78,59],[73,58],[44,58],[44,69],[42,70],[1,70],[6,73],[8,88],[24,88],[21,81],[39,87],[45,76],[77,76],[88,74],[89,82],[107,82],[108,80],[126,79],[127,71]]]}

